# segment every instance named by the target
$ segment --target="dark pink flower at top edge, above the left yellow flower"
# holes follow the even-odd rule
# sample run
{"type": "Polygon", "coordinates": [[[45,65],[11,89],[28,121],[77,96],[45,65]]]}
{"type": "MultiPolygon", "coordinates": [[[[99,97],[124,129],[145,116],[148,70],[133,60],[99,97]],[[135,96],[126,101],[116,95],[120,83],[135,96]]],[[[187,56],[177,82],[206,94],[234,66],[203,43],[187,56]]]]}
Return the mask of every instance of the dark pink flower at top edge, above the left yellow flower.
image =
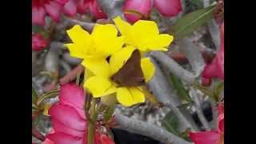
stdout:
{"type": "Polygon", "coordinates": [[[79,0],[78,13],[84,14],[87,9],[96,19],[106,18],[106,14],[102,11],[97,0],[79,0]]]}

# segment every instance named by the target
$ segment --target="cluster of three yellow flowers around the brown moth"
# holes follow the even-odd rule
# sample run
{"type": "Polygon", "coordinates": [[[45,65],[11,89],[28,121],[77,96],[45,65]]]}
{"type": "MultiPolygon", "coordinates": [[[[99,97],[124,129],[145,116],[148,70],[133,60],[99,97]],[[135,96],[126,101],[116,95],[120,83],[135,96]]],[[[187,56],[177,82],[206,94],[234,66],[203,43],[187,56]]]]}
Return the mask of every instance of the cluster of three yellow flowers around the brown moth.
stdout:
{"type": "Polygon", "coordinates": [[[145,102],[141,86],[120,84],[114,80],[114,75],[126,65],[133,54],[136,60],[134,52],[139,51],[138,72],[142,72],[143,82],[149,82],[154,76],[154,65],[150,58],[143,58],[143,54],[150,50],[166,51],[173,36],[159,34],[158,26],[153,21],[139,20],[130,25],[117,17],[114,18],[114,23],[115,25],[96,24],[91,34],[76,25],[67,30],[73,43],[66,46],[72,57],[82,58],[82,65],[86,67],[84,87],[94,98],[116,94],[118,102],[123,106],[132,106],[145,102]],[[121,36],[118,36],[116,26],[121,36]]]}

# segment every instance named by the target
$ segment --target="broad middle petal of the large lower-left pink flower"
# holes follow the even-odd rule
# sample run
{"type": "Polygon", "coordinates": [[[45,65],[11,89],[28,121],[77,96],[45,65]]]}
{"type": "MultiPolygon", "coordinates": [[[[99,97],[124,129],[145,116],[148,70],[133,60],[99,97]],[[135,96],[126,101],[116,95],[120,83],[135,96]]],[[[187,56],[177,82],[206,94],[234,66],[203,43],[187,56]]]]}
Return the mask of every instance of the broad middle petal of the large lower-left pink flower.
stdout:
{"type": "Polygon", "coordinates": [[[58,122],[62,122],[63,125],[74,130],[86,129],[86,120],[72,106],[56,104],[50,107],[49,114],[52,118],[58,120],[58,122]]]}

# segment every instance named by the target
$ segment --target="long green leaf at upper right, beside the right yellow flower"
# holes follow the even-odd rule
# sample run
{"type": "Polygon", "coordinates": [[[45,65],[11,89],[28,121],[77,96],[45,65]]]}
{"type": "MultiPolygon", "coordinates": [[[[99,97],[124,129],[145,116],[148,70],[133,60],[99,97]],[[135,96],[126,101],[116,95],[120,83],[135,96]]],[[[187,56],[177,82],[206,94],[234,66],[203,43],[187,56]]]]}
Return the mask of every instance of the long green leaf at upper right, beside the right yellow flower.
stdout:
{"type": "Polygon", "coordinates": [[[212,18],[214,10],[215,6],[209,6],[205,9],[186,14],[171,26],[171,34],[174,34],[174,38],[184,38],[194,30],[197,30],[200,26],[206,24],[206,22],[212,18]]]}

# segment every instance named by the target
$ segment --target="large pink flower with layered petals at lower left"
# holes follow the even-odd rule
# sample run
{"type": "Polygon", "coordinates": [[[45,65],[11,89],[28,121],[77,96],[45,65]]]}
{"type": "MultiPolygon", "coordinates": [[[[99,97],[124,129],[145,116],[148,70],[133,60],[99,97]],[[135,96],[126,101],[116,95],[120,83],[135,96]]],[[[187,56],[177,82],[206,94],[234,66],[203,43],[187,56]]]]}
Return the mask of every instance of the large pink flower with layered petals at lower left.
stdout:
{"type": "MultiPolygon", "coordinates": [[[[84,102],[85,92],[81,87],[75,84],[61,87],[59,102],[49,110],[54,133],[48,134],[47,140],[54,144],[84,144],[87,141],[88,122],[83,110],[84,102]]],[[[103,144],[101,137],[102,134],[95,130],[94,143],[103,144]]]]}

